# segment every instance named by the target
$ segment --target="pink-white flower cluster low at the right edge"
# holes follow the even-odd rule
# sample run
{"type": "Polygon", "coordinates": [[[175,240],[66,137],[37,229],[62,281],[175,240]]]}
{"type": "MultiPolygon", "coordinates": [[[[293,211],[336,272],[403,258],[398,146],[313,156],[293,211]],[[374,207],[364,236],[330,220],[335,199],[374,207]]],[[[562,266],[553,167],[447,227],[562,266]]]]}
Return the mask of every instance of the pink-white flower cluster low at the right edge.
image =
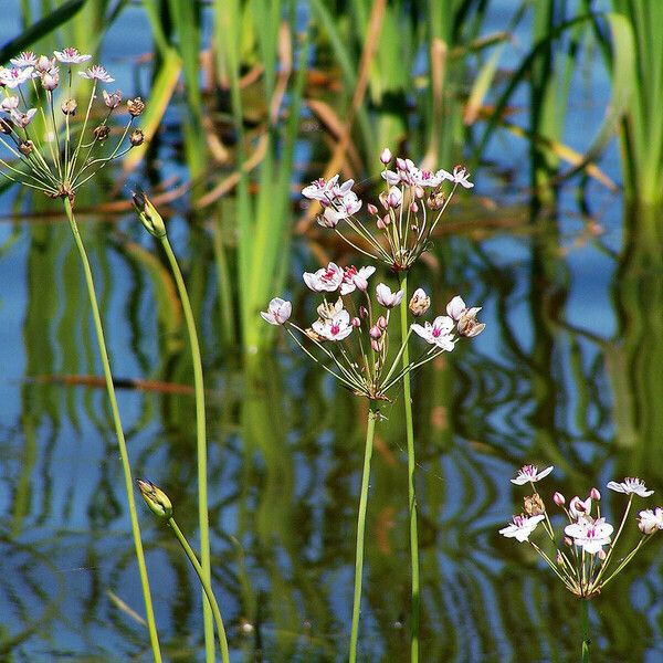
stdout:
{"type": "Polygon", "coordinates": [[[609,490],[628,495],[614,536],[614,527],[601,516],[601,494],[597,488],[592,488],[585,499],[576,495],[568,504],[561,493],[555,493],[552,502],[564,512],[568,520],[564,527],[564,535],[556,537],[544,501],[535,486],[550,472],[552,467],[538,471],[534,465],[525,465],[518,471],[516,477],[511,480],[516,485],[529,484],[534,494],[524,498],[524,513],[514,516],[499,534],[520,543],[528,543],[571,593],[580,598],[591,598],[601,592],[659,529],[663,529],[663,508],[648,508],[639,513],[636,522],[642,533],[640,540],[630,552],[620,557],[615,564],[611,564],[633,501],[636,497],[649,497],[653,491],[649,491],[642,481],[633,477],[627,477],[621,483],[614,481],[608,483],[609,490]],[[539,524],[555,548],[554,555],[547,554],[529,540],[539,524]]]}

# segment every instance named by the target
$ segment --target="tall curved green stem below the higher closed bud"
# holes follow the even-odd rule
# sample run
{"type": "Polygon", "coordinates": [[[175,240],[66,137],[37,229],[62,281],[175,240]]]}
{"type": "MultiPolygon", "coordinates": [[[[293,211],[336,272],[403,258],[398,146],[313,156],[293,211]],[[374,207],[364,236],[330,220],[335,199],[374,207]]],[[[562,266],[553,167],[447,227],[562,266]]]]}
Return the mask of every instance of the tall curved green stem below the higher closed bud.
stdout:
{"type": "MultiPolygon", "coordinates": [[[[197,457],[198,457],[198,526],[200,529],[200,560],[202,562],[202,572],[206,581],[209,583],[212,579],[210,560],[210,524],[208,515],[208,487],[207,487],[207,431],[204,419],[204,383],[202,379],[202,360],[200,358],[200,345],[196,332],[196,320],[187,286],[179,269],[177,257],[172,252],[168,236],[159,238],[164,251],[168,257],[170,269],[175,276],[177,291],[182,303],[187,332],[189,334],[189,344],[191,346],[191,362],[193,364],[193,386],[196,389],[196,438],[197,438],[197,457]]],[[[204,589],[204,586],[203,586],[204,589]]],[[[212,612],[204,596],[202,598],[202,612],[204,624],[204,651],[208,663],[214,663],[214,625],[212,623],[212,612]]]]}

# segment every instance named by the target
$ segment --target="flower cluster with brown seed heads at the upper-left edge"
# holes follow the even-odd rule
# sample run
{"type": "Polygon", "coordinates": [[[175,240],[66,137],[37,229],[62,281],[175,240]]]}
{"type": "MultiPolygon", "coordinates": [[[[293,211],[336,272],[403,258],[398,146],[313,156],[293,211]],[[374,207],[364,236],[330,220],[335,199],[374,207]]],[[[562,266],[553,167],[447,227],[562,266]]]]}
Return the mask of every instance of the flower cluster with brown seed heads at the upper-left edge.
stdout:
{"type": "Polygon", "coordinates": [[[11,59],[10,66],[0,66],[0,173],[7,179],[51,198],[73,200],[75,190],[99,169],[143,144],[143,131],[131,130],[145,108],[140,97],[122,105],[119,90],[103,90],[98,103],[99,86],[114,81],[103,66],[77,72],[90,86],[83,103],[76,101],[73,70],[91,59],[73,48],[54,51],[53,56],[25,51],[11,59]],[[76,122],[80,106],[83,119],[76,122]],[[114,112],[127,112],[129,118],[112,138],[114,112]]]}

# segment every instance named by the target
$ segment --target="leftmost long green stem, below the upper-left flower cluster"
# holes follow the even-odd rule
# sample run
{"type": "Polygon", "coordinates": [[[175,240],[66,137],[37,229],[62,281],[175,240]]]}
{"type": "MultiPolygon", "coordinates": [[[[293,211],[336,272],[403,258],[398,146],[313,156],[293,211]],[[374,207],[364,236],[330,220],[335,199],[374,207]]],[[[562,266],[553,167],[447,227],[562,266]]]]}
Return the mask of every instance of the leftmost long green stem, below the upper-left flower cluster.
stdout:
{"type": "Polygon", "coordinates": [[[122,460],[122,467],[125,476],[125,488],[127,494],[127,502],[129,504],[129,515],[131,519],[131,533],[134,535],[134,546],[136,548],[136,559],[138,561],[138,571],[140,573],[140,585],[143,586],[143,598],[145,600],[145,613],[147,617],[147,628],[149,630],[149,640],[151,643],[152,655],[155,663],[161,663],[161,651],[159,649],[159,638],[157,635],[157,625],[155,622],[155,613],[151,602],[151,593],[149,590],[149,579],[147,577],[147,566],[145,564],[145,554],[143,551],[143,541],[140,540],[140,527],[138,525],[138,516],[136,514],[136,502],[134,501],[134,480],[131,478],[131,466],[129,465],[129,454],[127,452],[127,444],[122,429],[122,420],[119,418],[119,409],[117,407],[117,398],[115,397],[115,387],[113,386],[113,375],[110,373],[110,364],[108,361],[108,351],[106,350],[106,341],[104,339],[104,329],[102,327],[102,316],[99,314],[99,305],[97,302],[96,293],[94,290],[94,280],[92,276],[92,269],[90,267],[90,261],[87,260],[87,253],[78,232],[78,227],[74,218],[74,211],[72,203],[69,198],[64,199],[64,210],[69,219],[72,233],[74,234],[74,241],[76,249],[83,263],[83,271],[85,273],[85,283],[87,285],[87,294],[90,296],[90,304],[92,306],[92,314],[94,317],[94,326],[96,329],[97,341],[99,345],[99,354],[102,356],[102,364],[104,366],[104,377],[106,379],[106,390],[108,391],[108,400],[110,401],[110,412],[113,413],[113,422],[115,424],[115,434],[117,435],[117,445],[119,448],[119,457],[122,460]]]}

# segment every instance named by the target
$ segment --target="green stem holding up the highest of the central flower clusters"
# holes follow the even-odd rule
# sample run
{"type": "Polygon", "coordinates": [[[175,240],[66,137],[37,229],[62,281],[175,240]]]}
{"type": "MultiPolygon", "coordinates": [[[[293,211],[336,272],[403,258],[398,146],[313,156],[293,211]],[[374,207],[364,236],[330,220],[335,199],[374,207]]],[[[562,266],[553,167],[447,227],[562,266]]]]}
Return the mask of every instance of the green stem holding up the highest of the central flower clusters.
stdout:
{"type": "MultiPolygon", "coordinates": [[[[401,336],[408,338],[408,273],[400,273],[400,290],[403,291],[401,302],[401,336]]],[[[402,354],[403,370],[410,364],[408,341],[404,341],[402,354]]],[[[403,401],[406,404],[406,436],[408,440],[408,504],[410,512],[410,566],[412,573],[412,608],[410,628],[410,661],[419,661],[419,534],[417,530],[417,493],[414,490],[414,424],[412,420],[412,391],[410,373],[403,376],[403,401]]]]}

